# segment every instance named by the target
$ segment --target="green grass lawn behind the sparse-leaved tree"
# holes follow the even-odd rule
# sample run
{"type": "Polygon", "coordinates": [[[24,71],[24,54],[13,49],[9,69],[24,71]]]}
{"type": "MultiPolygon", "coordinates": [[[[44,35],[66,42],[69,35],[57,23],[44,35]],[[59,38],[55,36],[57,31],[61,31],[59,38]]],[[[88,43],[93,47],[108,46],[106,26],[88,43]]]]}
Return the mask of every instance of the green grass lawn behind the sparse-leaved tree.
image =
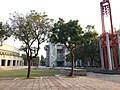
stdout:
{"type": "MultiPolygon", "coordinates": [[[[59,70],[54,69],[31,69],[31,77],[53,76],[59,74],[59,70]]],[[[0,78],[26,77],[27,69],[22,70],[0,70],[0,78]]]]}

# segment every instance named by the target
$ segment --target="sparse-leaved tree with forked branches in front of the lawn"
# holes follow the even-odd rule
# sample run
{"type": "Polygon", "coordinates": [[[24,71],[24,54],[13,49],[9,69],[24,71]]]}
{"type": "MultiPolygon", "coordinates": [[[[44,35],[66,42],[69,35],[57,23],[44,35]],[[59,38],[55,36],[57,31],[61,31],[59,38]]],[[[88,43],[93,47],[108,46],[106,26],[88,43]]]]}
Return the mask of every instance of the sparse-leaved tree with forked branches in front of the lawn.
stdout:
{"type": "Polygon", "coordinates": [[[32,10],[26,15],[14,12],[10,21],[15,39],[19,39],[24,44],[23,50],[28,59],[27,78],[30,78],[32,59],[38,55],[41,43],[47,40],[46,36],[53,20],[45,13],[32,10]]]}

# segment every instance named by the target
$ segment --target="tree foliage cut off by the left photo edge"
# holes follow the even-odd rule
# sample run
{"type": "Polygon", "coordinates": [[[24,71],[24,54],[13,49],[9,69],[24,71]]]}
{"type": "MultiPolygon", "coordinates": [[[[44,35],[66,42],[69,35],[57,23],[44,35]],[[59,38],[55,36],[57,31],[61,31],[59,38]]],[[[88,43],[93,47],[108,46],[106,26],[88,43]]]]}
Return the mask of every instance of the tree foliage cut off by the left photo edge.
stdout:
{"type": "Polygon", "coordinates": [[[10,26],[8,23],[3,24],[0,22],[0,45],[2,45],[3,41],[11,36],[10,26]]]}

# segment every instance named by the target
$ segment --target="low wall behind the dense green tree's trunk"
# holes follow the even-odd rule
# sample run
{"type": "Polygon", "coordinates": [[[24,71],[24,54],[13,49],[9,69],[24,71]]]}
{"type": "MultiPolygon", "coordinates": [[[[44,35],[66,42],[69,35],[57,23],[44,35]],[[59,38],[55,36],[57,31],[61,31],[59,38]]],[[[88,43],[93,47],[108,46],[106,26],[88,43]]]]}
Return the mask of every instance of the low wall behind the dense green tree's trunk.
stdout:
{"type": "MultiPolygon", "coordinates": [[[[71,72],[71,68],[60,69],[61,75],[68,76],[70,72],[71,72]]],[[[86,69],[74,69],[74,75],[75,76],[86,76],[86,69]]]]}

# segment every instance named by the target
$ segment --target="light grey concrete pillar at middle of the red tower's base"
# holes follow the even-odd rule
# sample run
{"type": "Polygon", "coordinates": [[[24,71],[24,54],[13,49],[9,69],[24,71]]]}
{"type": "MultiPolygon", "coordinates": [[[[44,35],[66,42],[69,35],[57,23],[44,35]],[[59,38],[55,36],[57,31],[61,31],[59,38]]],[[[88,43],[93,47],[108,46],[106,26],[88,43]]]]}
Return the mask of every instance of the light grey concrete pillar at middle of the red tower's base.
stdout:
{"type": "Polygon", "coordinates": [[[107,41],[107,53],[108,53],[109,70],[112,70],[112,60],[111,60],[111,53],[110,53],[109,34],[106,34],[106,41],[107,41]]]}

